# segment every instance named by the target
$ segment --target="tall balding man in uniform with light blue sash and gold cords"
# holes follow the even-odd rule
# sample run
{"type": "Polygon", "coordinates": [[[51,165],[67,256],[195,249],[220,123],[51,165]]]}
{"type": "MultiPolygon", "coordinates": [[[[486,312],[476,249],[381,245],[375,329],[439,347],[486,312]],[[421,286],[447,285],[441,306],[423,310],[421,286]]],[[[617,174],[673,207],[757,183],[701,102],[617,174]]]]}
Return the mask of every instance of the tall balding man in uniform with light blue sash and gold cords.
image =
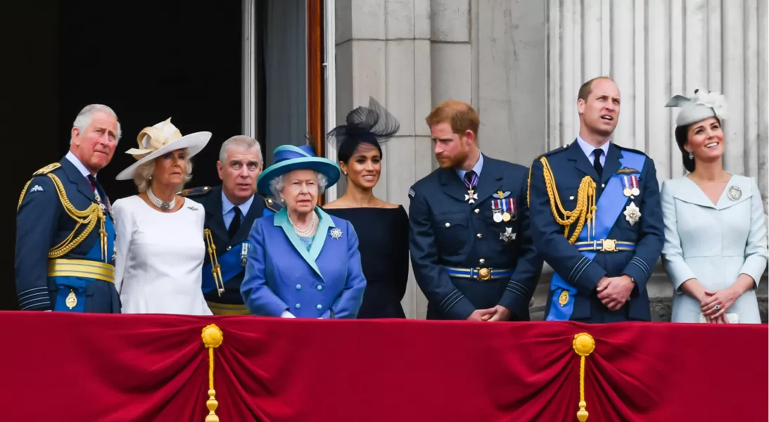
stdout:
{"type": "Polygon", "coordinates": [[[650,321],[646,284],[664,244],[654,161],[611,141],[620,91],[610,78],[582,85],[580,131],[531,166],[534,245],[555,273],[548,321],[650,321]]]}

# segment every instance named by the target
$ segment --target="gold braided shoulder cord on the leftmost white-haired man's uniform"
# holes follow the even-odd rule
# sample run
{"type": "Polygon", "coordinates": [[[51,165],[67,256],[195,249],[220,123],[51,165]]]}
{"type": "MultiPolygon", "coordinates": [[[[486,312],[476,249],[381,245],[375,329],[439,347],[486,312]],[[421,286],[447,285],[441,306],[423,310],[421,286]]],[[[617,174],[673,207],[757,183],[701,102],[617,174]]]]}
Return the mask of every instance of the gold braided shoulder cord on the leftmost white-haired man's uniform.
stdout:
{"type": "MultiPolygon", "coordinates": [[[[55,163],[58,164],[58,163],[55,163]]],[[[88,208],[85,208],[84,211],[80,211],[77,208],[75,208],[74,205],[72,205],[72,202],[69,201],[67,198],[67,192],[64,189],[64,184],[62,184],[62,181],[55,175],[48,173],[48,171],[51,171],[55,169],[56,167],[52,167],[54,164],[51,164],[49,166],[46,166],[45,168],[42,168],[35,172],[35,175],[39,174],[45,174],[53,181],[53,184],[56,188],[56,193],[58,194],[59,201],[62,202],[62,206],[64,207],[64,210],[67,212],[67,214],[75,220],[77,224],[75,224],[75,228],[72,230],[72,233],[69,234],[69,236],[62,241],[61,243],[57,244],[55,247],[53,247],[50,251],[48,251],[48,258],[61,258],[65,254],[68,254],[72,249],[75,249],[78,247],[79,244],[82,243],[82,241],[85,240],[85,238],[88,238],[88,235],[91,234],[93,229],[96,227],[96,223],[100,223],[99,227],[99,240],[101,244],[102,249],[102,259],[107,262],[107,231],[105,230],[105,221],[106,216],[104,212],[102,212],[102,208],[99,208],[98,204],[91,204],[88,208]],[[78,237],[75,238],[75,233],[78,231],[78,228],[85,224],[85,228],[83,231],[78,235],[78,237]],[[74,238],[74,239],[73,239],[74,238]]],[[[16,208],[16,212],[22,207],[22,201],[24,201],[25,194],[27,192],[27,189],[29,188],[29,184],[32,183],[32,179],[30,179],[27,184],[24,186],[24,190],[22,191],[21,196],[18,198],[18,206],[16,208]]]]}

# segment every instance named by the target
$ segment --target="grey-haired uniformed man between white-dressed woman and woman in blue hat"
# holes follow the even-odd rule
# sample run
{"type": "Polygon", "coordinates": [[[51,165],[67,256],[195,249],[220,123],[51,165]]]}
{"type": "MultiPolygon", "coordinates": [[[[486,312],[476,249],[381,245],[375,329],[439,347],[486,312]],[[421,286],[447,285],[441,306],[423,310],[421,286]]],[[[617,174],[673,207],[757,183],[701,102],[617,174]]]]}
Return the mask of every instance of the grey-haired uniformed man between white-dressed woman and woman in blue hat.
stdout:
{"type": "Polygon", "coordinates": [[[258,141],[233,136],[221,145],[216,162],[221,187],[192,188],[185,196],[205,207],[205,238],[208,256],[203,267],[203,293],[217,315],[247,315],[240,286],[248,254],[248,232],[255,219],[278,212],[272,198],[256,194],[262,169],[258,141]]]}

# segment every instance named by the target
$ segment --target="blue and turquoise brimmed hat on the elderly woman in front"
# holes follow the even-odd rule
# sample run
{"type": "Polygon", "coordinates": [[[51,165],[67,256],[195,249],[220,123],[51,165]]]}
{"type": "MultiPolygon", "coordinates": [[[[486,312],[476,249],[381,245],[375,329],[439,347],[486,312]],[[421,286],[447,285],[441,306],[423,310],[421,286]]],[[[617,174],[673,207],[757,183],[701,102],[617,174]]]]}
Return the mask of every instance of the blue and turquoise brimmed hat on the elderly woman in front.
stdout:
{"type": "Polygon", "coordinates": [[[283,174],[295,170],[315,170],[323,174],[328,179],[326,188],[329,188],[339,181],[341,169],[339,164],[328,158],[322,158],[315,155],[310,145],[281,145],[273,151],[275,164],[265,168],[256,179],[256,188],[259,193],[270,195],[270,181],[283,174]]]}

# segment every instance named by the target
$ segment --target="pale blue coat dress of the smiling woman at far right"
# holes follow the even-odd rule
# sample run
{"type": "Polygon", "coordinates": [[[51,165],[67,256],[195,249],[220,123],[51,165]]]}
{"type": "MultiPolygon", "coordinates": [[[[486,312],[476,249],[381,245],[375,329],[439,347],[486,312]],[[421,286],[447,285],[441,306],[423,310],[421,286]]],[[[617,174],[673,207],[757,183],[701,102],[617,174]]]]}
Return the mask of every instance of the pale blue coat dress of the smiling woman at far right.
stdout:
{"type": "MultiPolygon", "coordinates": [[[[761,192],[753,178],[737,174],[717,204],[690,178],[662,183],[665,244],[662,260],[671,277],[673,322],[699,322],[700,303],[681,291],[681,284],[697,278],[706,290],[722,290],[747,274],[756,282],[767,267],[767,226],[761,192]]],[[[761,324],[755,288],[727,310],[740,323],[761,324]]]]}

